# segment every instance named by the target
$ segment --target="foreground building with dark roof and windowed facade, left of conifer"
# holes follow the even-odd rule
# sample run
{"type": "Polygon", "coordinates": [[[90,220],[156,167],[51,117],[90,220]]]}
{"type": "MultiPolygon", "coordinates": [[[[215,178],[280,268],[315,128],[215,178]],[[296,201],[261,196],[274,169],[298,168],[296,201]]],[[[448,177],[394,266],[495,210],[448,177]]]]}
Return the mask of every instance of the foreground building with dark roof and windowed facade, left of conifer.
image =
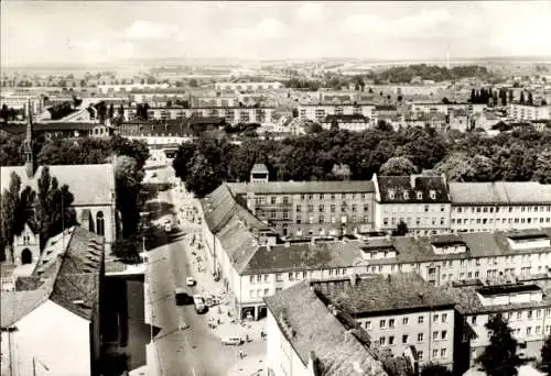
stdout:
{"type": "Polygon", "coordinates": [[[327,301],[350,314],[380,347],[400,356],[414,347],[419,365],[453,367],[455,301],[414,273],[352,275],[312,281],[327,301]]]}

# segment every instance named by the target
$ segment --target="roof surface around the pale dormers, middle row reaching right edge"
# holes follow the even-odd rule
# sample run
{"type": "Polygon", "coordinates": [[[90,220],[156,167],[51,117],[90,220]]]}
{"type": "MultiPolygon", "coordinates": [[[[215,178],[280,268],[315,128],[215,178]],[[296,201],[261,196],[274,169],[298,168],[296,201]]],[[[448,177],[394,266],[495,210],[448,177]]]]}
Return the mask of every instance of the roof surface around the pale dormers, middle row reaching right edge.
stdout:
{"type": "Polygon", "coordinates": [[[409,264],[409,263],[423,263],[441,259],[458,259],[465,258],[465,254],[436,254],[432,246],[433,243],[445,242],[463,242],[467,247],[467,255],[469,258],[477,257],[491,257],[491,256],[507,256],[515,254],[527,253],[545,253],[551,252],[551,247],[537,247],[537,248],[522,248],[514,250],[507,236],[514,234],[533,234],[543,233],[551,236],[551,228],[541,230],[519,230],[519,231],[496,231],[496,232],[472,232],[472,233],[457,233],[444,234],[432,236],[396,236],[391,237],[392,247],[397,251],[396,258],[379,258],[369,259],[372,265],[378,264],[409,264]]]}

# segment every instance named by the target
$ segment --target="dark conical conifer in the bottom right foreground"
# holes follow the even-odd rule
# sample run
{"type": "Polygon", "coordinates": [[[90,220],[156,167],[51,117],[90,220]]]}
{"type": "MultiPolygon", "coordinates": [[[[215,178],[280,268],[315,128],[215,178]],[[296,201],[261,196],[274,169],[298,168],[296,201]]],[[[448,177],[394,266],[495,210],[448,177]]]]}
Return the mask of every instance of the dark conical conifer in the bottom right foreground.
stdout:
{"type": "Polygon", "coordinates": [[[517,355],[517,340],[511,334],[511,329],[500,314],[490,318],[486,323],[490,333],[489,344],[476,360],[487,376],[517,376],[517,367],[522,361],[517,355]]]}

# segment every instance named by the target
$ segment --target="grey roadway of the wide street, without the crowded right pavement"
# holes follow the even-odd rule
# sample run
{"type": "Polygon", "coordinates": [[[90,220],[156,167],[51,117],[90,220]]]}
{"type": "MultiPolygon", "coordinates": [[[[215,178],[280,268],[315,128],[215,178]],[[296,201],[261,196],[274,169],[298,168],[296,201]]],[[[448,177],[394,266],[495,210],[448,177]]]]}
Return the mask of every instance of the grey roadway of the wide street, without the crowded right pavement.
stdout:
{"type": "MultiPolygon", "coordinates": [[[[173,170],[170,167],[158,170],[160,180],[169,181],[172,177],[173,170]]],[[[179,204],[175,202],[179,201],[177,197],[181,197],[179,188],[159,192],[159,201],[173,204],[174,212],[179,210],[179,204]]],[[[161,219],[169,215],[164,213],[161,219]]],[[[174,215],[171,217],[175,219],[174,215]]],[[[191,223],[182,224],[177,231],[182,230],[184,233],[198,231],[197,226],[191,223]]],[[[163,243],[165,244],[149,250],[148,253],[145,317],[151,314],[151,322],[155,327],[153,349],[159,363],[154,372],[148,375],[227,375],[228,369],[239,362],[237,350],[223,346],[219,336],[208,328],[207,317],[213,312],[197,314],[193,305],[175,305],[174,289],[185,286],[186,277],[194,276],[198,280],[198,277],[205,279],[207,276],[206,274],[197,276],[187,237],[179,236],[175,241],[166,239],[163,243]]],[[[193,288],[194,294],[203,292],[204,286],[199,283],[193,288]]],[[[255,353],[256,351],[251,349],[250,354],[255,353]]]]}

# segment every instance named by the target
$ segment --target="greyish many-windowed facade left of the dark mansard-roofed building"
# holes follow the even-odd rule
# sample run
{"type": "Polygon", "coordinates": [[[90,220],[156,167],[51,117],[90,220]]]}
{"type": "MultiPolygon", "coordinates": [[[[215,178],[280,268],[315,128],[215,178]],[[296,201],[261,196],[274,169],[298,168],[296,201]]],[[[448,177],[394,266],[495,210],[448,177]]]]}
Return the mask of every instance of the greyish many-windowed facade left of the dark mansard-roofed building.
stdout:
{"type": "Polygon", "coordinates": [[[260,220],[272,222],[273,229],[287,236],[327,236],[339,234],[342,229],[346,233],[372,229],[372,192],[248,193],[245,199],[260,220]]]}

